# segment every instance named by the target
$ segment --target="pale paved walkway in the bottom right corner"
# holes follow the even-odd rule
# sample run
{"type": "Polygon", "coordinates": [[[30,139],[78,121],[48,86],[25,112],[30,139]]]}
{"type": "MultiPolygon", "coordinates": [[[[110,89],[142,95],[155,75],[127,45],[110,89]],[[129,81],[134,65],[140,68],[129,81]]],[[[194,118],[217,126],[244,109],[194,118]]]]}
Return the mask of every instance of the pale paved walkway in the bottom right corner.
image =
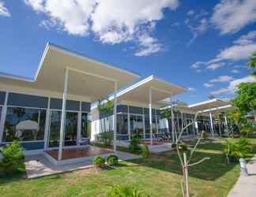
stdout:
{"type": "Polygon", "coordinates": [[[247,163],[248,177],[239,177],[228,197],[256,197],[256,155],[247,163]]]}

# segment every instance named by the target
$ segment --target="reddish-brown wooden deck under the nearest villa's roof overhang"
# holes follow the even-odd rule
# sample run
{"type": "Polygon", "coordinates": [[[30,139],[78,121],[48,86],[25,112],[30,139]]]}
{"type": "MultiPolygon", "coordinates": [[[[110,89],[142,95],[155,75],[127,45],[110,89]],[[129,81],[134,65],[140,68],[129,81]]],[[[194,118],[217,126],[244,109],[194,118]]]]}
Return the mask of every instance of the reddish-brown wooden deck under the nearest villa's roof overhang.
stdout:
{"type": "MultiPolygon", "coordinates": [[[[58,160],[58,149],[45,151],[52,158],[58,160]]],[[[74,159],[74,158],[87,158],[99,154],[111,154],[113,151],[106,150],[100,147],[72,147],[62,150],[62,160],[74,159]]]]}

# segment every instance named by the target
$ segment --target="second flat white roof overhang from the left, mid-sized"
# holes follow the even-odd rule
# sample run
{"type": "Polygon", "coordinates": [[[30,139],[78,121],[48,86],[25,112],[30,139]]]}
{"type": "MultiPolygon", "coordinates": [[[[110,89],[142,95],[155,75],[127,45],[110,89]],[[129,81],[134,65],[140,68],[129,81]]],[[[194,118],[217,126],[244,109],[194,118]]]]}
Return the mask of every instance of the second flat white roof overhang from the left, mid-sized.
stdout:
{"type": "Polygon", "coordinates": [[[149,88],[152,90],[152,105],[163,106],[160,101],[187,91],[184,87],[149,76],[126,89],[119,91],[119,101],[149,103],[149,88]]]}

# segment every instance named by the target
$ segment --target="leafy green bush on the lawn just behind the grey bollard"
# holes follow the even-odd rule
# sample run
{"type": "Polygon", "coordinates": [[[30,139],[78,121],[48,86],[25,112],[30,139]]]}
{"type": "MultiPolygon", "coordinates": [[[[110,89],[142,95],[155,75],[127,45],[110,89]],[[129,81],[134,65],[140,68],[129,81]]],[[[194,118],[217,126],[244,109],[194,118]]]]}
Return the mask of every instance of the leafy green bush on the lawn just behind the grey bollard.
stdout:
{"type": "Polygon", "coordinates": [[[228,158],[228,162],[238,162],[239,158],[250,156],[252,146],[246,138],[240,138],[239,141],[234,139],[224,142],[223,152],[228,158]]]}

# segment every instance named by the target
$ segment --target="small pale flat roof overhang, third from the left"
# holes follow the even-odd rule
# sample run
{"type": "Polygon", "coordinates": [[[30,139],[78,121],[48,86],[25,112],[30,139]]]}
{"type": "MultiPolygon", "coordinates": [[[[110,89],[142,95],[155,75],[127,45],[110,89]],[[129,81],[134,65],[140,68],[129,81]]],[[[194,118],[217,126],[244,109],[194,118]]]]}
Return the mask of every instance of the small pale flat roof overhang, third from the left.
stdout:
{"type": "Polygon", "coordinates": [[[189,105],[188,108],[190,108],[190,110],[204,112],[205,110],[214,108],[219,109],[220,107],[228,105],[230,105],[228,101],[224,101],[222,99],[211,99],[205,102],[198,102],[193,105],[189,105]]]}

